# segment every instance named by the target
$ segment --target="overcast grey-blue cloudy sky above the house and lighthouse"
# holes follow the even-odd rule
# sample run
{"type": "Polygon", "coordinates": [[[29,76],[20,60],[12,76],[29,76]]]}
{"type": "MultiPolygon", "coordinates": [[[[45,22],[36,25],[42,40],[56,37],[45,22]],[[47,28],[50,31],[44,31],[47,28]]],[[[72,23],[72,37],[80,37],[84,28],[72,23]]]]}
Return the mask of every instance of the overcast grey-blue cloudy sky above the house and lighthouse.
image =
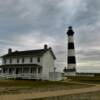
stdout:
{"type": "Polygon", "coordinates": [[[61,71],[69,25],[75,31],[77,71],[100,72],[100,0],[0,0],[0,55],[8,48],[53,48],[61,71]]]}

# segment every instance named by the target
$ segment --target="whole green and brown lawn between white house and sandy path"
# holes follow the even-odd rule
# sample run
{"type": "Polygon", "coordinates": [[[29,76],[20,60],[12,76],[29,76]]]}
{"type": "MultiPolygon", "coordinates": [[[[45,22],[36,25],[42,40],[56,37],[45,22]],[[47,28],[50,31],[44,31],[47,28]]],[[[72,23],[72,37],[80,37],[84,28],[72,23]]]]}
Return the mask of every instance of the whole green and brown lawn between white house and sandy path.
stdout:
{"type": "Polygon", "coordinates": [[[68,90],[84,87],[89,87],[89,85],[61,81],[0,80],[0,94],[68,90]]]}

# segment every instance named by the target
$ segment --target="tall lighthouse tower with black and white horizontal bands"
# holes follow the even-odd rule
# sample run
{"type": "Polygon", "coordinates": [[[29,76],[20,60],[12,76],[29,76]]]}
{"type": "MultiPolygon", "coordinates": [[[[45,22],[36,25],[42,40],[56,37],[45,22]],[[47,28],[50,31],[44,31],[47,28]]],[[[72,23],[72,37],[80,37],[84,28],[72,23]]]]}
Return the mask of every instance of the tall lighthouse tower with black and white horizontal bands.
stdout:
{"type": "Polygon", "coordinates": [[[75,47],[74,47],[74,31],[69,26],[68,31],[68,52],[67,52],[67,75],[75,75],[76,73],[76,58],[75,58],[75,47]]]}

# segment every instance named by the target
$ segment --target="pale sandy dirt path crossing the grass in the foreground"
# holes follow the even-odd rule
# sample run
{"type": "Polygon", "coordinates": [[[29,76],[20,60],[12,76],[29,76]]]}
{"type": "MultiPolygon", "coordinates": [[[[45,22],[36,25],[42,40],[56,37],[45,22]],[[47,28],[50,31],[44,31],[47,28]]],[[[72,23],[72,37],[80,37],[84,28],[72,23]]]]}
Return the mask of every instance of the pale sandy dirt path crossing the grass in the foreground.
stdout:
{"type": "Polygon", "coordinates": [[[61,91],[59,90],[59,91],[49,91],[49,92],[40,92],[40,93],[1,95],[0,100],[27,100],[27,99],[32,99],[32,98],[63,96],[63,95],[69,95],[69,94],[94,92],[94,91],[99,91],[99,90],[100,90],[100,86],[92,86],[92,87],[88,87],[88,88],[61,90],[61,91]]]}

